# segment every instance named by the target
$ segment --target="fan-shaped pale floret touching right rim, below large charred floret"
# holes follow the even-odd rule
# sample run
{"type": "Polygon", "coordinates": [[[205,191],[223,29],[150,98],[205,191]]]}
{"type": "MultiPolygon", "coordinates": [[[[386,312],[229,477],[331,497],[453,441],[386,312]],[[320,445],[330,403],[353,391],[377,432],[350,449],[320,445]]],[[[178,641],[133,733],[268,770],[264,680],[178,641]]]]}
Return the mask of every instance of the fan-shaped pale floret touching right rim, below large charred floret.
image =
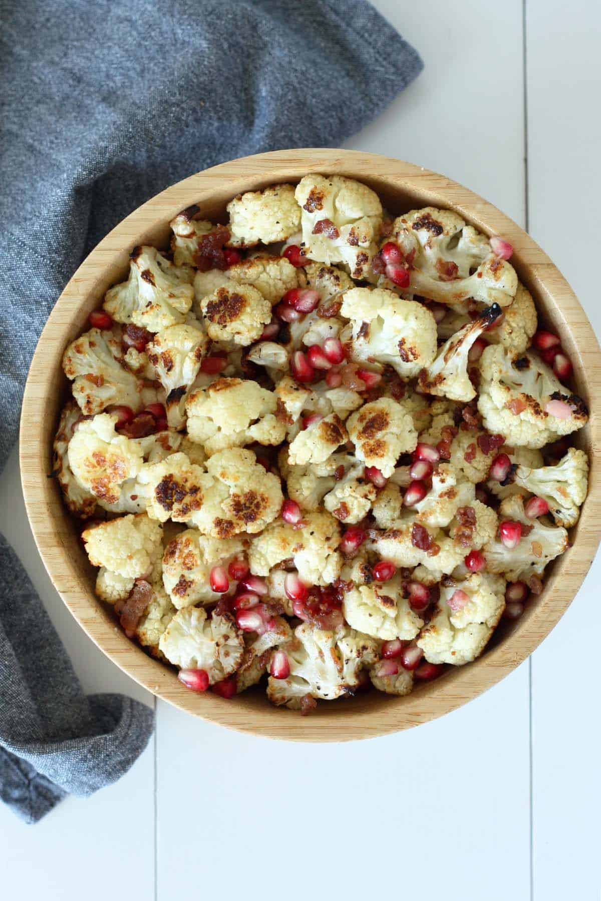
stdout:
{"type": "Polygon", "coordinates": [[[569,528],[578,522],[580,506],[587,496],[587,455],[584,451],[569,448],[555,466],[540,469],[518,466],[514,484],[542,497],[555,522],[569,528]]]}

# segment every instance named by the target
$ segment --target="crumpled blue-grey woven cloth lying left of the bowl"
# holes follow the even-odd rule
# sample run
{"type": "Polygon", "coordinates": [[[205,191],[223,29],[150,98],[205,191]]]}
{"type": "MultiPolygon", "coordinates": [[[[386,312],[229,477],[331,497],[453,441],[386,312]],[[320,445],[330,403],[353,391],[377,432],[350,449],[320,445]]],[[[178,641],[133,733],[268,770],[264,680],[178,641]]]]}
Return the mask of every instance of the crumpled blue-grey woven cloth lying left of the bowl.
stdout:
{"type": "MultiPolygon", "coordinates": [[[[0,469],[68,278],[169,184],[260,150],[339,146],[422,61],[364,0],[0,0],[0,469]]],[[[0,796],[30,822],[129,769],[150,710],[86,697],[0,548],[0,796]]]]}

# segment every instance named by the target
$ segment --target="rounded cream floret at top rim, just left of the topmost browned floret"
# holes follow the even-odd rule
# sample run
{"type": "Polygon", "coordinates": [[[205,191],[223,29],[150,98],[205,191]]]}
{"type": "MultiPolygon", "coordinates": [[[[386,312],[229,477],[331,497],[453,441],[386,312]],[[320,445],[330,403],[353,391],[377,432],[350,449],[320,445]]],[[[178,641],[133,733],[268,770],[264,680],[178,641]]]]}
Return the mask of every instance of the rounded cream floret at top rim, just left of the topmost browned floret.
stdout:
{"type": "Polygon", "coordinates": [[[301,221],[293,185],[271,185],[263,191],[247,191],[230,201],[227,212],[232,247],[286,241],[298,231],[301,221]]]}

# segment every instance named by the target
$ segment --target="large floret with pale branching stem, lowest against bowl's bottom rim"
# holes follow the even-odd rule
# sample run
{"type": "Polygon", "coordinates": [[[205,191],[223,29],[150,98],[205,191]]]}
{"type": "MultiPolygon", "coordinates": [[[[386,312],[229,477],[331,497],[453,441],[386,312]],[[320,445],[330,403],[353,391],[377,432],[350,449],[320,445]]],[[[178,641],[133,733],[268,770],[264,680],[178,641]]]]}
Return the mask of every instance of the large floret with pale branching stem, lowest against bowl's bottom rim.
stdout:
{"type": "Polygon", "coordinates": [[[269,677],[267,696],[272,704],[300,708],[305,695],[332,701],[352,694],[359,687],[359,673],[378,655],[377,643],[341,626],[335,632],[314,629],[303,623],[295,629],[295,637],[282,648],[290,664],[285,679],[269,677]]]}

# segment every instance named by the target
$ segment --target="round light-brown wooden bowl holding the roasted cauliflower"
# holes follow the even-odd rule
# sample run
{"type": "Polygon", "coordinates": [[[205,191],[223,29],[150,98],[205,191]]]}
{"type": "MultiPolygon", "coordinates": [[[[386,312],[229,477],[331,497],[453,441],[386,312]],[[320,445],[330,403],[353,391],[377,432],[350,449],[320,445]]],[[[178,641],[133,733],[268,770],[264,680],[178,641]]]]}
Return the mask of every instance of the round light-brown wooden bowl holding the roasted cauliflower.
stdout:
{"type": "Polygon", "coordinates": [[[21,475],[32,532],[54,586],[90,638],[124,672],[171,704],[242,732],[341,742],[396,732],[448,713],[506,676],[551,631],[577,593],[599,542],[601,475],[596,449],[601,422],[592,408],[587,428],[576,436],[576,443],[588,453],[591,470],[587,500],[572,532],[574,547],[548,570],[542,595],[529,601],[521,619],[505,621],[475,662],[451,668],[406,697],[370,692],[320,704],[308,717],[272,707],[264,692],[251,690],[227,701],[211,693],[196,695],[180,685],[175,670],[130,642],[110,610],[96,600],[96,570],[77,540],[77,524],[62,503],[56,479],[49,478],[52,439],[68,396],[60,361],[69,341],[84,331],[88,314],[101,303],[106,289],[126,278],[132,248],[144,243],[167,246],[168,223],[180,210],[197,204],[204,218],[223,219],[225,205],[240,192],[297,182],[307,172],[357,178],[377,191],[393,214],[425,205],[449,207],[481,232],[511,241],[512,264],[532,291],[540,318],[560,334],[574,364],[576,391],[589,406],[599,395],[601,355],[576,296],[532,238],[494,206],[449,178],[398,159],[354,150],[282,150],[235,159],[169,187],[117,225],[77,269],[52,310],[33,356],[23,398],[21,475]]]}

